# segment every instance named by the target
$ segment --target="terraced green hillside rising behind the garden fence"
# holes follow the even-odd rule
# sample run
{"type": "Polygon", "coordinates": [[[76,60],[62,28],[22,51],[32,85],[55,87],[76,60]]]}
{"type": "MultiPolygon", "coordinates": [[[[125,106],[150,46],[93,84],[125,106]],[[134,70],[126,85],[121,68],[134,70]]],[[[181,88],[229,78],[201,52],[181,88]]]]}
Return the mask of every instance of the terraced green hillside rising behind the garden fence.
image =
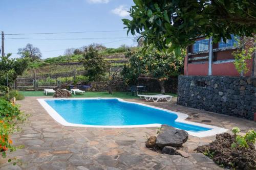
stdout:
{"type": "MultiPolygon", "coordinates": [[[[122,68],[127,62],[124,57],[125,48],[106,48],[99,51],[106,61],[111,63],[111,69],[122,68]]],[[[74,74],[82,75],[84,67],[81,63],[82,54],[71,56],[58,56],[47,58],[44,60],[34,60],[29,63],[29,68],[19,78],[33,78],[36,74],[37,78],[59,78],[72,77],[74,74]]]]}

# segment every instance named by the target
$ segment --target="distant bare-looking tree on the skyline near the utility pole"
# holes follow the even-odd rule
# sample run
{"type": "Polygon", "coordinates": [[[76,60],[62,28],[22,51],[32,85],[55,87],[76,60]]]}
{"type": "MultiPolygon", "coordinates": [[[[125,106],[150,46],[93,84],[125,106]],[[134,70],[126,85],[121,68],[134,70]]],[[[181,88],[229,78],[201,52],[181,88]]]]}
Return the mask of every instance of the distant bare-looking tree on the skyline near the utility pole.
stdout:
{"type": "Polygon", "coordinates": [[[37,60],[42,57],[39,48],[34,47],[32,44],[28,43],[24,48],[18,48],[18,53],[23,58],[27,57],[31,60],[37,60]]]}

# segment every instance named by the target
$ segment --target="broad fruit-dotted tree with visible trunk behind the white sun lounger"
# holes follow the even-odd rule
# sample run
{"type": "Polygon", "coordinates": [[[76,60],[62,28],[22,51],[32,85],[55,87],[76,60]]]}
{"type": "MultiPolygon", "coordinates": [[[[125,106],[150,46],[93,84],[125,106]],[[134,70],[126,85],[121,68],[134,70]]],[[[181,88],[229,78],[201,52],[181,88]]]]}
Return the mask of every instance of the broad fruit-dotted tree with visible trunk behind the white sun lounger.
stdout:
{"type": "Polygon", "coordinates": [[[135,53],[127,53],[129,57],[129,66],[125,66],[122,75],[127,81],[134,81],[141,75],[150,76],[156,79],[161,87],[161,93],[165,93],[165,81],[170,77],[176,77],[180,74],[183,66],[184,51],[181,56],[175,56],[174,53],[160,52],[157,48],[151,46],[150,50],[141,49],[135,53]],[[130,80],[129,80],[130,79],[130,80]]]}

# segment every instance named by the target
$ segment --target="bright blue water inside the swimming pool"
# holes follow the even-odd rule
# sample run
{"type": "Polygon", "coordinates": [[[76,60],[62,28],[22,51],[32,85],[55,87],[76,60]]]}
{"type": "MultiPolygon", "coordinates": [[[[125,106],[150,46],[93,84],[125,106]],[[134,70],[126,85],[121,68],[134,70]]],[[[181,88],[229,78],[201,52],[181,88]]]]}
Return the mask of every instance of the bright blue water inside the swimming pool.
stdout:
{"type": "Polygon", "coordinates": [[[177,123],[175,113],[126,103],[117,99],[45,100],[68,123],[100,126],[167,124],[179,129],[207,131],[195,125],[177,123]]]}

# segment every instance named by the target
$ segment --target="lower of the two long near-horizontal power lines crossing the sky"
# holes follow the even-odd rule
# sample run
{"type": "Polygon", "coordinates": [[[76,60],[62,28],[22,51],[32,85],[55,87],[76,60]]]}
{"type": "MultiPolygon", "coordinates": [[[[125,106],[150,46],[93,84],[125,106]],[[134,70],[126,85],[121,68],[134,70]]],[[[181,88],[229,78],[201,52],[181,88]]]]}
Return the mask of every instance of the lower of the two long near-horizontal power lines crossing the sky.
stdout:
{"type": "MultiPolygon", "coordinates": [[[[12,38],[5,37],[5,39],[26,39],[26,40],[86,40],[86,39],[120,39],[127,37],[101,37],[101,38],[12,38]]],[[[134,38],[134,37],[129,37],[134,38]]]]}

